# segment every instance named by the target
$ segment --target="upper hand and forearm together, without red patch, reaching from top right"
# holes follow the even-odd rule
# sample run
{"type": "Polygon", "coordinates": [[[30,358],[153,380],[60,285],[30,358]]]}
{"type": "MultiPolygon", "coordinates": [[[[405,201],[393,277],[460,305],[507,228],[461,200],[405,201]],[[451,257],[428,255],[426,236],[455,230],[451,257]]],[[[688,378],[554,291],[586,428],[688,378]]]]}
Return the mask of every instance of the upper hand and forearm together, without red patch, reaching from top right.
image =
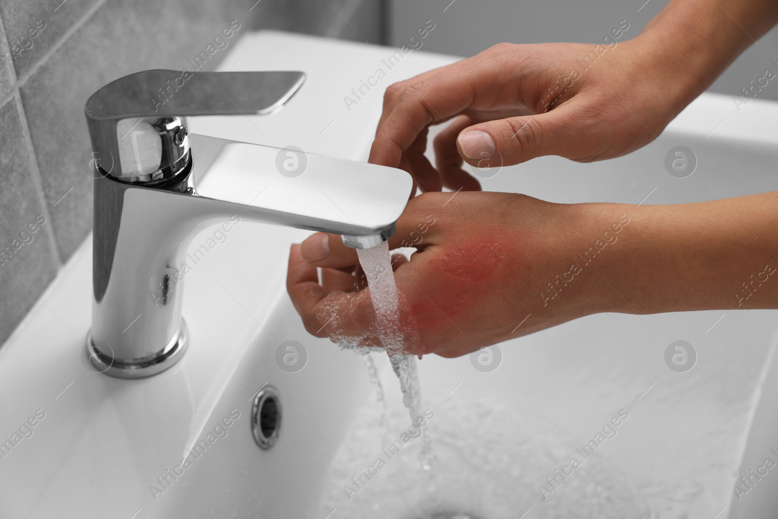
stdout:
{"type": "Polygon", "coordinates": [[[775,0],[671,0],[632,40],[623,20],[600,44],[498,44],[389,86],[370,162],[422,191],[479,189],[462,169],[543,155],[578,162],[640,148],[778,21],[775,0]],[[424,156],[429,126],[435,164],[424,156]]]}

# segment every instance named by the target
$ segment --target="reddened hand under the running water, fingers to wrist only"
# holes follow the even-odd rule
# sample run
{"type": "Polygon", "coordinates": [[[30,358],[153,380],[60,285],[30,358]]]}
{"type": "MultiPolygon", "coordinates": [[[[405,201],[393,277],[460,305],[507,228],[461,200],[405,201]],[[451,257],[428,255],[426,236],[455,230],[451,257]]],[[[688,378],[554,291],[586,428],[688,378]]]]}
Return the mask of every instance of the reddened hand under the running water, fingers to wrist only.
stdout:
{"type": "MultiPolygon", "coordinates": [[[[418,249],[410,261],[394,262],[406,350],[460,356],[603,310],[594,296],[602,288],[593,284],[598,268],[571,272],[581,262],[575,244],[588,234],[585,207],[506,193],[413,198],[389,241],[390,248],[418,249]],[[565,275],[573,281],[554,297],[550,284],[565,275]]],[[[381,345],[357,265],[356,250],[340,237],[316,233],[293,247],[287,289],[311,334],[381,345]]]]}

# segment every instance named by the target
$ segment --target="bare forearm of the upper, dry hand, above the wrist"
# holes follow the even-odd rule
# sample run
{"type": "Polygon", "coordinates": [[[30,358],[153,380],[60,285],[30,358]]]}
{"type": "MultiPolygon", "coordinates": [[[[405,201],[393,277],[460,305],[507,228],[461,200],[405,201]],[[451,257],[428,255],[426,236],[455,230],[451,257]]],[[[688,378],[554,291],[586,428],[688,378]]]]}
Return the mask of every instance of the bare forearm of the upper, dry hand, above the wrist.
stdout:
{"type": "Polygon", "coordinates": [[[776,23],[775,0],[671,0],[631,43],[672,118],[776,23]]]}

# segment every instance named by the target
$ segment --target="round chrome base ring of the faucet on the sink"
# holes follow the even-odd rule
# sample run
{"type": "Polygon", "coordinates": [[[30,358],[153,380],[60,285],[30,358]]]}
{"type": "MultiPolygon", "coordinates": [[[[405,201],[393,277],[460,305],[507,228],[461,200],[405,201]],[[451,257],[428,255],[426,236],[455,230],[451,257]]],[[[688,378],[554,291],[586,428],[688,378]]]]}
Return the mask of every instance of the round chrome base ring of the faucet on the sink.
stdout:
{"type": "Polygon", "coordinates": [[[178,335],[173,337],[170,344],[150,356],[142,359],[115,359],[111,355],[113,350],[105,342],[93,341],[92,331],[86,334],[86,345],[82,352],[82,364],[87,370],[94,373],[105,373],[117,378],[144,378],[151,377],[177,363],[184,356],[188,345],[189,332],[187,324],[181,319],[181,328],[178,335]]]}

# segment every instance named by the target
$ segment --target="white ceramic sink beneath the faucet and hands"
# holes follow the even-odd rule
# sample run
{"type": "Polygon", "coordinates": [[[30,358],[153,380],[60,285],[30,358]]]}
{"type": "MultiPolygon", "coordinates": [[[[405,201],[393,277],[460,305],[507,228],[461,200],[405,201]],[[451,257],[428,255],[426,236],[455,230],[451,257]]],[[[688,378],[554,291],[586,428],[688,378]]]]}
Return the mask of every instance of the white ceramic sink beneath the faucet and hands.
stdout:
{"type": "MultiPolygon", "coordinates": [[[[343,96],[391,52],[249,34],[223,70],[299,69],[306,85],[272,116],[193,117],[191,129],[366,160],[381,93],[356,106],[343,96]]],[[[413,51],[380,87],[454,59],[413,51]]],[[[738,113],[730,98],[704,94],[629,156],[544,157],[482,185],[635,204],[778,190],[775,121],[778,103],[738,113]],[[675,146],[696,156],[689,177],[664,167],[675,146]]],[[[170,370],[120,380],[82,363],[91,239],[0,349],[0,441],[12,443],[0,446],[0,517],[774,517],[774,471],[747,493],[734,486],[778,461],[775,310],[595,315],[478,352],[494,370],[476,369],[477,356],[426,356],[422,429],[436,457],[426,472],[421,440],[401,440],[410,420],[386,357],[368,357],[371,381],[366,359],[308,335],[286,296],[289,245],[308,233],[248,222],[215,231],[192,241],[216,245],[187,274],[191,343],[170,370]],[[279,361],[288,341],[302,345],[301,370],[279,361]],[[666,363],[675,341],[695,349],[691,370],[666,363]],[[263,450],[252,405],[267,387],[282,413],[263,450]]]]}

